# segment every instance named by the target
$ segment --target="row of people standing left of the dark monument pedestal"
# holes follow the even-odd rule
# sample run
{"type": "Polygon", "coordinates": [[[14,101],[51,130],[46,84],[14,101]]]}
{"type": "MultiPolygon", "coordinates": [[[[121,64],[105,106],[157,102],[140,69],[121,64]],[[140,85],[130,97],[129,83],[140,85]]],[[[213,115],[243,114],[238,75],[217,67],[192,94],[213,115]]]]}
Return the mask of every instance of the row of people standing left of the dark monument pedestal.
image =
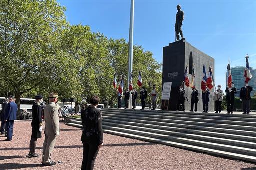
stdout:
{"type": "MultiPolygon", "coordinates": [[[[118,93],[118,98],[117,98],[117,102],[118,102],[118,107],[117,108],[121,108],[121,100],[122,100],[122,96],[124,96],[124,103],[125,103],[125,108],[124,109],[128,109],[128,103],[129,103],[129,99],[130,99],[130,95],[131,95],[131,103],[132,103],[132,109],[136,109],[136,100],[138,98],[138,92],[136,91],[136,89],[133,89],[132,91],[129,91],[129,89],[127,89],[123,94],[118,93]]],[[[145,87],[142,87],[140,92],[139,92],[139,99],[141,100],[141,110],[145,109],[146,106],[146,98],[147,98],[147,90],[145,87]]],[[[155,89],[155,85],[153,85],[153,89],[151,91],[151,93],[149,93],[149,95],[151,96],[151,101],[152,101],[152,110],[156,109],[156,99],[157,99],[157,90],[155,89]]]]}

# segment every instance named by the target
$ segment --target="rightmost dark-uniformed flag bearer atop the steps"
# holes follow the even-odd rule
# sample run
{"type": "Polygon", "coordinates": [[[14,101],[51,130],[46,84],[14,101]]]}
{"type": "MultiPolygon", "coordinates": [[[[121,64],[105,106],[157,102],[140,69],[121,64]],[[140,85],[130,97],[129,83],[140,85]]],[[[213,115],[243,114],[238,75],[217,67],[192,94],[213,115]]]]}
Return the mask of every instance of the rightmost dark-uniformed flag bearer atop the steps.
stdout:
{"type": "Polygon", "coordinates": [[[245,82],[245,87],[241,88],[240,91],[240,100],[242,101],[243,113],[242,114],[250,114],[250,92],[253,90],[248,83],[245,82]]]}

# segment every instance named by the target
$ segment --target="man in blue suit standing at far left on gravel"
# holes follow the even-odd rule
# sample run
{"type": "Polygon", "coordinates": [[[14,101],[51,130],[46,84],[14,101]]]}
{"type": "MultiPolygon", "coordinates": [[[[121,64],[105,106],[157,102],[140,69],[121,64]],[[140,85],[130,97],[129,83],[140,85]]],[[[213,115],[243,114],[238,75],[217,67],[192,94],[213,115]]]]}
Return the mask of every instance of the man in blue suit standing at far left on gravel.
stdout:
{"type": "Polygon", "coordinates": [[[6,121],[8,136],[4,141],[12,140],[13,125],[14,125],[14,120],[17,119],[17,110],[18,110],[18,106],[15,103],[15,97],[9,96],[9,104],[5,112],[5,121],[6,121]]]}

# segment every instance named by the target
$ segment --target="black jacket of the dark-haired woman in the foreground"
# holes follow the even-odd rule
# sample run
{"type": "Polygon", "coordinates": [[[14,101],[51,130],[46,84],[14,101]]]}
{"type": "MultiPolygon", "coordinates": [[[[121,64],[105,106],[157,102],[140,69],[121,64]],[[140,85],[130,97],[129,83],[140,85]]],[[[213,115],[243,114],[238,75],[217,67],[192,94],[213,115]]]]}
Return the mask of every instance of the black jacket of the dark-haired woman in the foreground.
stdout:
{"type": "Polygon", "coordinates": [[[82,110],[82,137],[81,141],[88,143],[103,143],[102,113],[95,107],[89,106],[82,110]]]}

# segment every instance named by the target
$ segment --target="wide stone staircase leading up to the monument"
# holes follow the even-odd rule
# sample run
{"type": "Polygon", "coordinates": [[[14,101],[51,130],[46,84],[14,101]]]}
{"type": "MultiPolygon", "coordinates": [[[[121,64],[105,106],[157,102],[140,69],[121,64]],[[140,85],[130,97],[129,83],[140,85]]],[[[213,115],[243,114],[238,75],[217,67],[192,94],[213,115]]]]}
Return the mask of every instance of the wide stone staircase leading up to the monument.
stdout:
{"type": "MultiPolygon", "coordinates": [[[[256,116],[102,109],[103,132],[256,162],[256,116]]],[[[75,118],[67,125],[80,127],[75,118]]]]}

